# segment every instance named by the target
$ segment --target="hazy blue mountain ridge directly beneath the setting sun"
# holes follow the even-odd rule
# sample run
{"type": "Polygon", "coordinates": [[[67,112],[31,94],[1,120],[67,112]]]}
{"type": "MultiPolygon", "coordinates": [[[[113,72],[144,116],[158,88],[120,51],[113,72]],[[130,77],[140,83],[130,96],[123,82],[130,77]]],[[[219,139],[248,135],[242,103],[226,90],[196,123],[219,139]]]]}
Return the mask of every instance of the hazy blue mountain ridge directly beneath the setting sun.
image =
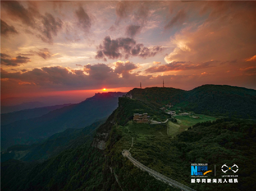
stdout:
{"type": "Polygon", "coordinates": [[[15,144],[34,143],[68,128],[84,128],[107,117],[124,92],[96,93],[78,104],[51,111],[33,119],[1,125],[1,150],[15,144]]]}

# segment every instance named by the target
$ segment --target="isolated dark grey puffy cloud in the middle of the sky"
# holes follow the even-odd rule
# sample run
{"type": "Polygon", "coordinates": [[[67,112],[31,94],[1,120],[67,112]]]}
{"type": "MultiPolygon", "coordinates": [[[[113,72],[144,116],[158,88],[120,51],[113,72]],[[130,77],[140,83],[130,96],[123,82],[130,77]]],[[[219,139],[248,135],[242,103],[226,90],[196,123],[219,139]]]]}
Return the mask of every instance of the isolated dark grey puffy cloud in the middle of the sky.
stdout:
{"type": "Polygon", "coordinates": [[[129,56],[140,56],[142,58],[156,55],[156,53],[162,51],[161,46],[144,47],[143,44],[136,44],[136,41],[132,38],[117,38],[111,40],[109,36],[106,36],[103,40],[103,45],[98,47],[96,59],[117,59],[124,57],[128,59],[129,56]]]}

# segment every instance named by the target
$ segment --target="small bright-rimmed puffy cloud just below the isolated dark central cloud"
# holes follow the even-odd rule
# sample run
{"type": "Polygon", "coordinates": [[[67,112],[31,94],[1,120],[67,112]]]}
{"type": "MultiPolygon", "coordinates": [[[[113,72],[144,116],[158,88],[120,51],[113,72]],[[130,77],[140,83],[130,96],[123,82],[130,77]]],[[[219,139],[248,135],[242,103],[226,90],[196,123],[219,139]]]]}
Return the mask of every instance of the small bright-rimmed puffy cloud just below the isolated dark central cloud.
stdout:
{"type": "Polygon", "coordinates": [[[129,61],[126,61],[126,62],[117,61],[115,62],[115,65],[116,65],[116,68],[114,72],[117,74],[122,74],[122,77],[128,77],[130,71],[138,68],[135,64],[129,61]]]}

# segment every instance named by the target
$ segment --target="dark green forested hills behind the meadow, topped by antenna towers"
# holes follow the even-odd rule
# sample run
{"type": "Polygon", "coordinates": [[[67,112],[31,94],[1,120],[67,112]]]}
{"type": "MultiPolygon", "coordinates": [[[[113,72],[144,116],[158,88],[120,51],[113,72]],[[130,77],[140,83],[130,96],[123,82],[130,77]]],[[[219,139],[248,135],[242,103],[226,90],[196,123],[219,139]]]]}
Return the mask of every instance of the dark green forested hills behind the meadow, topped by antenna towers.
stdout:
{"type": "Polygon", "coordinates": [[[206,84],[185,91],[167,87],[134,88],[126,96],[158,104],[172,103],[197,114],[256,119],[256,90],[206,84]]]}

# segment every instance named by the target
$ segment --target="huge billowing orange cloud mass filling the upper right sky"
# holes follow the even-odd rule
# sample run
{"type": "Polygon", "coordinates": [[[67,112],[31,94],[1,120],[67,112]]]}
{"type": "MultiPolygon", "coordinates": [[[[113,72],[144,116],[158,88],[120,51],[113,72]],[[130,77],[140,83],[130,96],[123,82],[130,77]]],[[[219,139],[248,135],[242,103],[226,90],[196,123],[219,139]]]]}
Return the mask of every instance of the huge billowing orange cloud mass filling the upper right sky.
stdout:
{"type": "MultiPolygon", "coordinates": [[[[255,2],[247,2],[245,7],[230,1],[221,5],[209,1],[207,5],[210,14],[202,25],[187,25],[171,37],[174,49],[165,56],[166,63],[209,59],[224,62],[255,55],[255,2]]],[[[246,61],[255,59],[253,56],[246,61]]]]}

